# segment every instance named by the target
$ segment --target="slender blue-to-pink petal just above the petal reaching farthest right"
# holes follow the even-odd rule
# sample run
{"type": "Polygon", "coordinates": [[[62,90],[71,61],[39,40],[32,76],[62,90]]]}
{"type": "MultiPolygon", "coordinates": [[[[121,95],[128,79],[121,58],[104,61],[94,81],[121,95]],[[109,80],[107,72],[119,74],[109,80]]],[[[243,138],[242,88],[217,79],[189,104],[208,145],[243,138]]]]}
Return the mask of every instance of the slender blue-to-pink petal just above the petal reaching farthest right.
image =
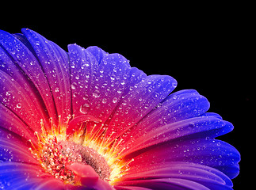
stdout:
{"type": "Polygon", "coordinates": [[[141,135],[134,135],[132,140],[126,142],[126,149],[128,151],[123,154],[130,154],[136,150],[162,142],[178,142],[181,138],[183,140],[197,139],[202,136],[204,138],[214,138],[220,135],[220,132],[231,131],[232,128],[233,126],[230,123],[220,120],[215,116],[193,117],[162,127],[155,127],[141,135]]]}

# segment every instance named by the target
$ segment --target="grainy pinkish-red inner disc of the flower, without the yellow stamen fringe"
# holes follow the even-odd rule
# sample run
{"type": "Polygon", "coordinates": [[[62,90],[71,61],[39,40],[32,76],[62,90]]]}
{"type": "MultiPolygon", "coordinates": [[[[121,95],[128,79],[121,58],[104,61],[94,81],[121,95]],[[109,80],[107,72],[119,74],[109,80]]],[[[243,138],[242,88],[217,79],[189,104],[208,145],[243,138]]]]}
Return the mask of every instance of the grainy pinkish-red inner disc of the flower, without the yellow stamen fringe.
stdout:
{"type": "Polygon", "coordinates": [[[42,167],[55,178],[63,180],[65,184],[77,184],[75,174],[67,169],[67,165],[75,162],[90,165],[101,180],[109,180],[110,170],[105,158],[90,147],[75,142],[48,139],[38,157],[42,167]]]}

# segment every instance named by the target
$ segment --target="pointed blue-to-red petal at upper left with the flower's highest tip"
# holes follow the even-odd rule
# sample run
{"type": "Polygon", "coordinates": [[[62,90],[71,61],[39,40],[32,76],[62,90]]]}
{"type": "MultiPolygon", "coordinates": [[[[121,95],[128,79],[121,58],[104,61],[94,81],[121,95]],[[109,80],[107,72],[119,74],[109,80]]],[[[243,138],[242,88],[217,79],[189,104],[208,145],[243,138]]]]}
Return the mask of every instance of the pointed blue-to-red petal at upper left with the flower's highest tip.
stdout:
{"type": "MultiPolygon", "coordinates": [[[[21,31],[29,40],[36,52],[36,59],[40,61],[44,69],[52,92],[51,95],[54,98],[57,115],[62,116],[63,120],[67,120],[67,116],[71,115],[70,67],[67,52],[32,30],[24,28],[21,31]]],[[[56,116],[52,117],[57,119],[56,116]]]]}

